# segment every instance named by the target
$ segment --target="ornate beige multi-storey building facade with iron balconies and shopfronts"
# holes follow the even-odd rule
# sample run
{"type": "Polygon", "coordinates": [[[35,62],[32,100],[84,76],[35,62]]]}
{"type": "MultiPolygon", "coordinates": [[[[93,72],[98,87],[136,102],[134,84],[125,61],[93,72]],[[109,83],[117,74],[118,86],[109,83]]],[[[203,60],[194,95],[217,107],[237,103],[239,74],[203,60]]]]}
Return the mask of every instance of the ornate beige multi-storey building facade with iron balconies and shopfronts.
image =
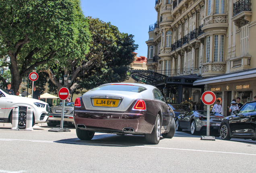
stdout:
{"type": "MultiPolygon", "coordinates": [[[[157,22],[149,26],[146,41],[147,68],[165,74],[168,80],[201,77],[178,91],[182,101],[199,101],[204,91],[213,91],[221,100],[223,115],[228,115],[227,106],[235,97],[243,103],[253,99],[256,2],[156,0],[155,10],[157,22]]],[[[167,82],[168,86],[173,96],[174,85],[167,82]]]]}

